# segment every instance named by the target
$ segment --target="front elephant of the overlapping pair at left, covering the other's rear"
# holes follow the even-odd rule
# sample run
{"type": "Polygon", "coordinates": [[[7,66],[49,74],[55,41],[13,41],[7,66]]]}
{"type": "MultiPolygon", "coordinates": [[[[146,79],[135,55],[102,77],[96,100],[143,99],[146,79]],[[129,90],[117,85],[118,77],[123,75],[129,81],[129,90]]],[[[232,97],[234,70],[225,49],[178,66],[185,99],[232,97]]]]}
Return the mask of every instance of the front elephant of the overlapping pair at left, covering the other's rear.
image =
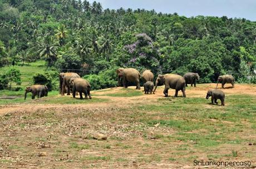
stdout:
{"type": "Polygon", "coordinates": [[[85,94],[85,99],[91,99],[91,85],[88,83],[87,80],[82,79],[82,78],[71,78],[70,79],[70,84],[73,86],[72,88],[72,93],[73,93],[73,98],[76,98],[76,92],[80,94],[80,99],[83,98],[82,93],[85,94]]]}

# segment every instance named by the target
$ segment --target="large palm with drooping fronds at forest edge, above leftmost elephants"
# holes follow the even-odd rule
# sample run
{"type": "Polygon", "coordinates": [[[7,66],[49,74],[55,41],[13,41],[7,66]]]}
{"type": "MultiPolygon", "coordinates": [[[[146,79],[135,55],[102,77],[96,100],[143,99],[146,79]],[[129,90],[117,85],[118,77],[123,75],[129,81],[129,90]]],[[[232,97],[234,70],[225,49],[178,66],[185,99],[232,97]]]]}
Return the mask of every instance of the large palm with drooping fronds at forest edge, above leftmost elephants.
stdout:
{"type": "Polygon", "coordinates": [[[38,50],[39,57],[44,58],[48,66],[52,66],[57,60],[57,44],[58,43],[54,42],[53,37],[50,37],[50,35],[46,35],[43,42],[40,44],[42,48],[38,50]]]}

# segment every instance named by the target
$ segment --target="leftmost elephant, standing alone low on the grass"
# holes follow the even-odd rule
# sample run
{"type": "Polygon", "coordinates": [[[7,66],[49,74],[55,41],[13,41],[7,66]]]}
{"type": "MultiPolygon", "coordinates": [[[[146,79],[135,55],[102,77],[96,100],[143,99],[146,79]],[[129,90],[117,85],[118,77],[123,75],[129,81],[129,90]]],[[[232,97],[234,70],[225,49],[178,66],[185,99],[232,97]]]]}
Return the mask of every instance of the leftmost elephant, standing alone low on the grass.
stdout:
{"type": "Polygon", "coordinates": [[[37,98],[42,98],[48,95],[48,88],[44,85],[27,86],[24,93],[24,100],[27,98],[27,93],[32,93],[32,99],[35,99],[36,95],[37,98]]]}

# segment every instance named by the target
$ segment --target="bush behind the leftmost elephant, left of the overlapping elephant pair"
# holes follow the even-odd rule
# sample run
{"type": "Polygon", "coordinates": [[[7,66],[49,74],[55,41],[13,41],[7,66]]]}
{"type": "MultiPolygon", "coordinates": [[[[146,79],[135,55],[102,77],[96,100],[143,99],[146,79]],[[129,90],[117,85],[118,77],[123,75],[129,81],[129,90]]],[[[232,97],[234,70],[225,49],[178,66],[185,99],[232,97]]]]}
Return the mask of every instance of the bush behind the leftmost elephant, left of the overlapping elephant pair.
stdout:
{"type": "Polygon", "coordinates": [[[37,73],[33,76],[33,84],[46,85],[48,90],[58,89],[58,71],[48,70],[45,73],[37,73]]]}

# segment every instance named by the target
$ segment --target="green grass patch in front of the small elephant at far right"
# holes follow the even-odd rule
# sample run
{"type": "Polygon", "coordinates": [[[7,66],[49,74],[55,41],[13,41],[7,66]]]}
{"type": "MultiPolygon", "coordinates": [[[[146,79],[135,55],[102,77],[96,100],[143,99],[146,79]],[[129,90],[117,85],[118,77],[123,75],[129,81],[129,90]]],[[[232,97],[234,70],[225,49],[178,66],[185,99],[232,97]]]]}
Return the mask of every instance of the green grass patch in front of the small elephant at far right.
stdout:
{"type": "Polygon", "coordinates": [[[233,139],[233,136],[248,129],[252,135],[256,134],[253,130],[256,126],[256,96],[228,95],[225,101],[225,106],[218,106],[210,105],[204,98],[161,98],[157,104],[139,106],[137,116],[147,126],[154,127],[159,123],[159,127],[173,129],[173,135],[159,138],[165,142],[193,142],[195,148],[247,142],[245,138],[237,136],[233,139]],[[141,113],[147,111],[152,113],[141,113]]]}

